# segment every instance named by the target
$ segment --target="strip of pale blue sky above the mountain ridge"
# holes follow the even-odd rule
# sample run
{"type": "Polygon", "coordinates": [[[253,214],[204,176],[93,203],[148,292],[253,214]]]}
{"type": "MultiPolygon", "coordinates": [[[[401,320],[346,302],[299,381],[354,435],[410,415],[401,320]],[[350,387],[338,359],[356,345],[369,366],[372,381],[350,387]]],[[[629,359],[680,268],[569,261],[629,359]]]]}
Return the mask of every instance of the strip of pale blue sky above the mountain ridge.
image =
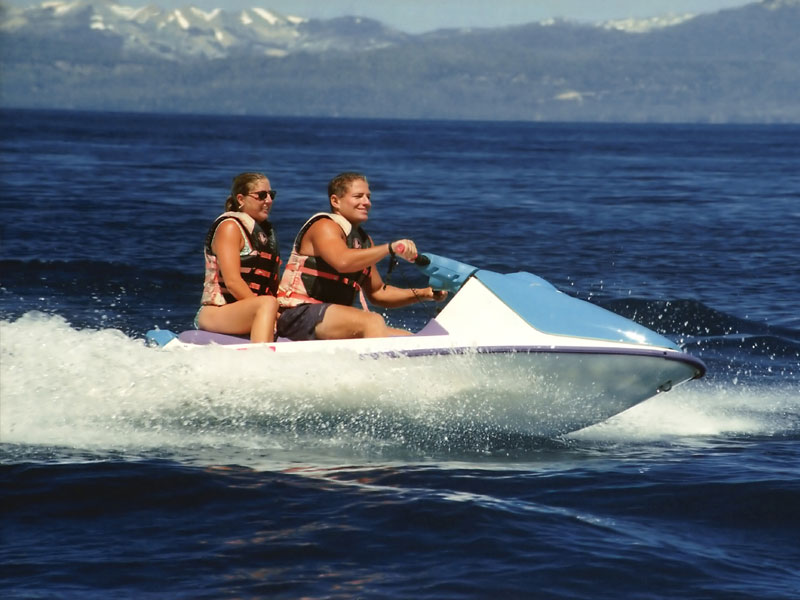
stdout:
{"type": "MultiPolygon", "coordinates": [[[[65,2],[68,0],[64,0],[65,2]]],[[[513,25],[565,17],[601,21],[625,17],[706,13],[743,6],[756,0],[117,0],[117,4],[162,8],[196,6],[231,11],[254,6],[284,15],[331,18],[359,15],[386,25],[419,33],[441,27],[513,25]]],[[[32,6],[41,0],[0,0],[32,6]]]]}

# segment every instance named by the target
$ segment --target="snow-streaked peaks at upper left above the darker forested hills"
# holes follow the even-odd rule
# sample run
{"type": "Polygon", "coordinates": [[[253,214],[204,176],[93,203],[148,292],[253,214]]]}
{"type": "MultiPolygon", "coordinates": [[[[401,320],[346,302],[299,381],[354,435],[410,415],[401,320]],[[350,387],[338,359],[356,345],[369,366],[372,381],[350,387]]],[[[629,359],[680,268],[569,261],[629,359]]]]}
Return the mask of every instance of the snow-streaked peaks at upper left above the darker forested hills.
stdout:
{"type": "Polygon", "coordinates": [[[111,0],[50,0],[29,8],[6,8],[0,33],[30,37],[103,37],[121,44],[125,56],[169,60],[225,58],[239,53],[285,56],[381,48],[405,34],[377,21],[346,17],[326,21],[283,15],[266,8],[204,11],[193,6],[162,10],[111,0]]]}

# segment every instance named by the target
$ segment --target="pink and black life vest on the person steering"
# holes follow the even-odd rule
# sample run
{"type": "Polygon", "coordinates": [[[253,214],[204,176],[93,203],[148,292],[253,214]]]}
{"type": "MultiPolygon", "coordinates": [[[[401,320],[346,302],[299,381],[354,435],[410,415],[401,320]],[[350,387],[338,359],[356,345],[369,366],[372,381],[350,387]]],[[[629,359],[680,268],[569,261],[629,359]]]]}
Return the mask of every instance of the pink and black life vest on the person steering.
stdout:
{"type": "MultiPolygon", "coordinates": [[[[352,273],[340,273],[325,262],[321,256],[300,254],[300,243],[309,227],[319,219],[325,218],[332,219],[342,228],[348,248],[372,246],[367,232],[361,227],[353,228],[353,225],[341,215],[317,213],[312,216],[297,234],[292,254],[283,271],[283,277],[278,287],[278,303],[282,309],[321,302],[351,306],[356,295],[361,292],[364,282],[369,278],[372,267],[352,273]]],[[[362,304],[365,304],[363,298],[362,304]]]]}

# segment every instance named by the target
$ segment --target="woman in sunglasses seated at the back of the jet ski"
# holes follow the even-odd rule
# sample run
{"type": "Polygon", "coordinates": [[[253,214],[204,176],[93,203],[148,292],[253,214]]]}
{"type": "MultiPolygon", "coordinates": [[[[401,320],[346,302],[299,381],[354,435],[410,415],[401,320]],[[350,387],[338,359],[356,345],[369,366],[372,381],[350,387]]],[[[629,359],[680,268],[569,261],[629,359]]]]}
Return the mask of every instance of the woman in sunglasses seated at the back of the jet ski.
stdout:
{"type": "Polygon", "coordinates": [[[225,212],[206,235],[206,274],[195,327],[215,333],[250,334],[253,342],[275,335],[281,265],[269,222],[276,192],[262,173],[233,178],[225,212]]]}

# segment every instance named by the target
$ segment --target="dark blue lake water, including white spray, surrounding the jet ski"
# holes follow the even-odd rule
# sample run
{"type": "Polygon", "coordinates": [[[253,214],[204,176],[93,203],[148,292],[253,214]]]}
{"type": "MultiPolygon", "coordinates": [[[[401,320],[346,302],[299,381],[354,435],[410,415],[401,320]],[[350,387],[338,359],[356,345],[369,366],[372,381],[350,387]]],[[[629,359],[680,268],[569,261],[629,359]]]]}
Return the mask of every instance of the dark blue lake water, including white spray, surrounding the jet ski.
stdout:
{"type": "Polygon", "coordinates": [[[799,126],[0,116],[3,597],[800,596],[799,126]],[[402,362],[145,347],[190,327],[245,170],[285,255],[363,171],[376,241],[534,272],[709,372],[546,439],[402,362]]]}

